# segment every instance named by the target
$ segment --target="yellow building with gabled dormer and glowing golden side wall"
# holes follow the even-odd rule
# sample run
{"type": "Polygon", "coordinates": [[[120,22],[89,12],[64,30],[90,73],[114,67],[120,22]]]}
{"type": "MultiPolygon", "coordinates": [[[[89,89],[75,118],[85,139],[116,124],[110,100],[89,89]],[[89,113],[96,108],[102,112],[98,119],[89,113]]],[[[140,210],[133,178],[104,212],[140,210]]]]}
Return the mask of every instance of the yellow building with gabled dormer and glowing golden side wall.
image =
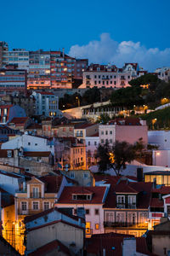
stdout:
{"type": "Polygon", "coordinates": [[[54,207],[62,177],[47,175],[44,177],[31,177],[26,183],[26,190],[18,191],[15,194],[15,222],[14,229],[17,234],[15,249],[24,254],[24,231],[23,220],[28,215],[48,210],[54,207]],[[20,235],[20,236],[19,236],[20,235]]]}

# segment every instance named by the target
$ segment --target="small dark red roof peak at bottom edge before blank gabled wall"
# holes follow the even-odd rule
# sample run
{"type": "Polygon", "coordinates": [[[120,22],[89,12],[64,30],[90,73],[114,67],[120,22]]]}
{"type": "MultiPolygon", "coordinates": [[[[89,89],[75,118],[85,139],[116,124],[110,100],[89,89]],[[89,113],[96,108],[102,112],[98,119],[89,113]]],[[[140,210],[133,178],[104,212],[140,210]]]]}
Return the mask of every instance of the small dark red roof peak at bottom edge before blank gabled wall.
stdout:
{"type": "Polygon", "coordinates": [[[47,244],[45,244],[42,247],[37,248],[37,250],[35,250],[32,253],[29,253],[29,256],[37,256],[37,255],[47,255],[47,253],[51,253],[54,251],[55,253],[57,253],[57,250],[59,249],[59,252],[63,252],[66,255],[71,255],[69,249],[67,247],[65,247],[64,244],[62,244],[60,241],[58,240],[54,240],[54,241],[50,241],[47,244]]]}

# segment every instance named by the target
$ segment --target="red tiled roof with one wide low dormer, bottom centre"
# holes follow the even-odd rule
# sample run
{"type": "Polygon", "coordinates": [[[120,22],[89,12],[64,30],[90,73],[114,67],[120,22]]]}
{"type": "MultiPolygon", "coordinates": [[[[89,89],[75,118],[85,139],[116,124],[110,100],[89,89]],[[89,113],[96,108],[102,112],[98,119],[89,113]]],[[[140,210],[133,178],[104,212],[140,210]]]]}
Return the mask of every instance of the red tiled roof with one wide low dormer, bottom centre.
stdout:
{"type": "Polygon", "coordinates": [[[106,187],[65,187],[59,197],[58,204],[102,204],[106,187]],[[84,192],[87,191],[87,192],[84,192]],[[92,193],[91,200],[74,200],[72,195],[92,193]]]}

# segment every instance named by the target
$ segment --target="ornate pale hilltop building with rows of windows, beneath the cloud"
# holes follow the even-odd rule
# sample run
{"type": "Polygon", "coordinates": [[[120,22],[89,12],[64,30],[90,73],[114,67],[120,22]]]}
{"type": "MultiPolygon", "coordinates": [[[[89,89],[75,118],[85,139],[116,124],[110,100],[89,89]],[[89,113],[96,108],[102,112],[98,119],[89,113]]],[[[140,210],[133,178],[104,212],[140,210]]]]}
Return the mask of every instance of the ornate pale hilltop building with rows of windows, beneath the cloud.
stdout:
{"type": "Polygon", "coordinates": [[[91,64],[83,72],[83,84],[81,88],[124,88],[128,82],[138,76],[138,63],[125,63],[122,68],[115,65],[91,64]]]}

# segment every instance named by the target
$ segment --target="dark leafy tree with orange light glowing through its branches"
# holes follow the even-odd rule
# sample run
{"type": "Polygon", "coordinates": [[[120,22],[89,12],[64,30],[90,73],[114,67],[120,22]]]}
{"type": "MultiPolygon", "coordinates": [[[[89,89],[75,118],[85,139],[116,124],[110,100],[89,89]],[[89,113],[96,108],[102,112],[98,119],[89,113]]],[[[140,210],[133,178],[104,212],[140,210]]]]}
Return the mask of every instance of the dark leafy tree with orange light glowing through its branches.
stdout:
{"type": "Polygon", "coordinates": [[[136,157],[135,146],[127,142],[117,142],[109,147],[108,143],[99,144],[96,157],[99,159],[99,171],[105,172],[113,168],[119,176],[126,168],[126,163],[130,163],[136,157]]]}

